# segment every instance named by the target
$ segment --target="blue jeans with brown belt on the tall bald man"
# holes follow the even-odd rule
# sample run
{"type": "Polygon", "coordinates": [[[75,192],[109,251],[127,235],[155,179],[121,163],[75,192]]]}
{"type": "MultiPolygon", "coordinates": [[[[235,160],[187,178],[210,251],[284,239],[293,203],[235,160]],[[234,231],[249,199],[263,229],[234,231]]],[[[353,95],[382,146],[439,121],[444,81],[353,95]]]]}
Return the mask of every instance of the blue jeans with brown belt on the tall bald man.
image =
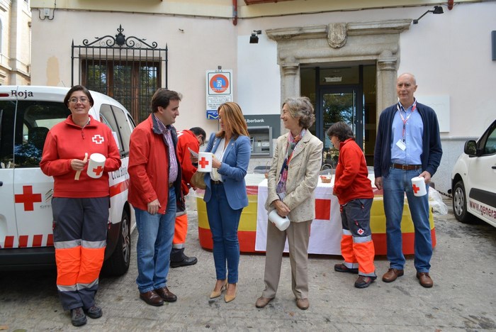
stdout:
{"type": "MultiPolygon", "coordinates": [[[[418,177],[420,173],[422,170],[405,171],[391,167],[388,176],[383,177],[388,260],[393,269],[402,270],[405,265],[401,233],[405,192],[415,227],[415,268],[417,272],[429,272],[431,267],[432,238],[429,224],[429,195],[415,196],[411,181],[412,177],[418,177]]],[[[429,188],[427,188],[427,192],[429,192],[428,190],[429,188]]]]}

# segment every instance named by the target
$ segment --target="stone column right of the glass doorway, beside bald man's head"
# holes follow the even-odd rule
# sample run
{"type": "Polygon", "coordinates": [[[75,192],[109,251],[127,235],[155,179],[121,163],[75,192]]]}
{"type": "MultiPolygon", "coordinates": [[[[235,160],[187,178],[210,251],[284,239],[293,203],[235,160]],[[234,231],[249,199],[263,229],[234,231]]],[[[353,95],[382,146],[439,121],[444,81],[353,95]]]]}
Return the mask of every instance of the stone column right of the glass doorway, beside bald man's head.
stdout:
{"type": "Polygon", "coordinates": [[[398,57],[389,50],[381,52],[377,59],[377,118],[386,107],[398,101],[396,78],[398,57]]]}

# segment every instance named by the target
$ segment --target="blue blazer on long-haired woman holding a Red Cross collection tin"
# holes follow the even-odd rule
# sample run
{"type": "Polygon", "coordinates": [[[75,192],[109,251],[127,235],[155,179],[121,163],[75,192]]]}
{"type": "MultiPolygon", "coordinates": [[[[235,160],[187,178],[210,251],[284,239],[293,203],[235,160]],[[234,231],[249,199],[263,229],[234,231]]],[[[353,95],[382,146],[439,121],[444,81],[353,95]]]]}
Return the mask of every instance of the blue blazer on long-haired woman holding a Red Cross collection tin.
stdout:
{"type": "MultiPolygon", "coordinates": [[[[218,149],[220,138],[215,138],[215,133],[210,135],[205,152],[212,152],[218,149]]],[[[222,165],[218,169],[222,177],[227,202],[233,210],[239,210],[248,206],[247,186],[244,183],[244,176],[247,175],[249,157],[252,155],[252,145],[248,136],[238,136],[231,138],[227,148],[225,148],[222,165]]],[[[205,174],[205,195],[204,201],[212,198],[212,187],[210,184],[210,173],[205,174]]]]}

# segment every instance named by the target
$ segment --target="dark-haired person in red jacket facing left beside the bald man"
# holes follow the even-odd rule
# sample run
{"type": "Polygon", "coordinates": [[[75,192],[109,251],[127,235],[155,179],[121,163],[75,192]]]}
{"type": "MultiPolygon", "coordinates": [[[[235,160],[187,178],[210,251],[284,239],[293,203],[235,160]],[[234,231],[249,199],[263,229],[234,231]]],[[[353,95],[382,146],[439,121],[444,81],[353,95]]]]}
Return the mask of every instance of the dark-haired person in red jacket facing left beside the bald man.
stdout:
{"type": "Polygon", "coordinates": [[[366,288],[377,276],[371,232],[373,191],[365,156],[347,123],[334,123],[327,130],[327,136],[339,150],[334,195],[341,206],[343,226],[341,255],[344,262],[334,265],[334,270],[358,273],[355,287],[366,288]]]}

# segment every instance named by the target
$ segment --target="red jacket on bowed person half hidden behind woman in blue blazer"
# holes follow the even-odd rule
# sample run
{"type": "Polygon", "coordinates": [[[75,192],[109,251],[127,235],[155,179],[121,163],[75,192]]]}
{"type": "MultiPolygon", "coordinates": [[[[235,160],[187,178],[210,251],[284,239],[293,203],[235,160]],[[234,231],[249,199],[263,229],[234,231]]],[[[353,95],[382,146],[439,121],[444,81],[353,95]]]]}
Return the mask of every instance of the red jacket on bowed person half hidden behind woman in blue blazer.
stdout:
{"type": "Polygon", "coordinates": [[[191,177],[196,172],[196,167],[194,167],[191,163],[191,153],[188,148],[196,153],[200,150],[200,143],[198,143],[195,133],[188,130],[179,131],[179,133],[177,133],[176,152],[179,159],[179,164],[181,164],[181,190],[185,196],[189,192],[188,184],[191,181],[191,177]]]}

